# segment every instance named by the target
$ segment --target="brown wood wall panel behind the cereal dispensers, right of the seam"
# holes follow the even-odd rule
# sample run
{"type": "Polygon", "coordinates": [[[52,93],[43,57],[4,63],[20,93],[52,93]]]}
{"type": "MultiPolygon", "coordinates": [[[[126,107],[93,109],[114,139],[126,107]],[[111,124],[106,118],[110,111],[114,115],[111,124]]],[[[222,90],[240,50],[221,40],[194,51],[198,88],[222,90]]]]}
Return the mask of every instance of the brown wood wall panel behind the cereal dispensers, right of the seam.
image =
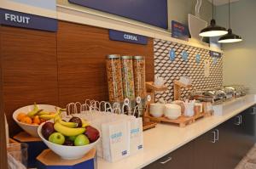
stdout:
{"type": "Polygon", "coordinates": [[[107,29],[60,22],[57,54],[61,106],[84,99],[108,100],[107,54],[146,56],[146,78],[154,78],[152,39],[146,46],[109,41],[107,29]]]}

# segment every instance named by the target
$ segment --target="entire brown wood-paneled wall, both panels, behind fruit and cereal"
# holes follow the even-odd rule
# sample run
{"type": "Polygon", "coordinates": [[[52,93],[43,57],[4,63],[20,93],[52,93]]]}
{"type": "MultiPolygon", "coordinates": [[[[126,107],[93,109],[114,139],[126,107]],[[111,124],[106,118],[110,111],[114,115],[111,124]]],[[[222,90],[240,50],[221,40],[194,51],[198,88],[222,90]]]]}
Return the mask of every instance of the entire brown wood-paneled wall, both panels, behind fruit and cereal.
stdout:
{"type": "Polygon", "coordinates": [[[147,81],[154,80],[153,39],[148,45],[114,42],[108,30],[59,22],[56,33],[1,27],[3,103],[10,132],[14,110],[27,104],[108,100],[107,54],[146,56],[147,81]]]}

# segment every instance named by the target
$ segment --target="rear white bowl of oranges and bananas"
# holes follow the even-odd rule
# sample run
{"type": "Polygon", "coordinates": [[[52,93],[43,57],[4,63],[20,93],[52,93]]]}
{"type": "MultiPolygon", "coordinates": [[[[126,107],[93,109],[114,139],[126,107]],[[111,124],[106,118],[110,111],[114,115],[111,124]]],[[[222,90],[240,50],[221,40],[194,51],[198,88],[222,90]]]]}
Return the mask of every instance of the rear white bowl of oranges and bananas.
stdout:
{"type": "Polygon", "coordinates": [[[33,137],[38,136],[38,126],[57,115],[55,105],[33,104],[15,110],[13,119],[27,133],[33,137]]]}

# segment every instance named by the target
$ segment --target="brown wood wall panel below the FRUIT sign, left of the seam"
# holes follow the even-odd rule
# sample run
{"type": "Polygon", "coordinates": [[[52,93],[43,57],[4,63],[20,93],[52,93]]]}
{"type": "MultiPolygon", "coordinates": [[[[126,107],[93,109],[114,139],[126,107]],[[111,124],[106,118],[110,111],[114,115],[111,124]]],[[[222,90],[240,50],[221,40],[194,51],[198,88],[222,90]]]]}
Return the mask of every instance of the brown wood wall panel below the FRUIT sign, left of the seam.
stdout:
{"type": "Polygon", "coordinates": [[[3,104],[11,133],[12,113],[21,106],[58,104],[56,35],[2,26],[3,104]]]}

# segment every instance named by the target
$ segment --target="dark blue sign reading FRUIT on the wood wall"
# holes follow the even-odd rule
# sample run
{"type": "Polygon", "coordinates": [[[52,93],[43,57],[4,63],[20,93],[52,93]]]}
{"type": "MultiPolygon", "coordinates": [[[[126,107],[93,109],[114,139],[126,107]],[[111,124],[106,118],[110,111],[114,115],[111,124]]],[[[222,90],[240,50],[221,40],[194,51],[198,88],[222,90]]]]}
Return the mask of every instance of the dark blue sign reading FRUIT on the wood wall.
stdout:
{"type": "Polygon", "coordinates": [[[58,20],[0,8],[0,25],[12,25],[43,31],[57,31],[58,20]]]}

